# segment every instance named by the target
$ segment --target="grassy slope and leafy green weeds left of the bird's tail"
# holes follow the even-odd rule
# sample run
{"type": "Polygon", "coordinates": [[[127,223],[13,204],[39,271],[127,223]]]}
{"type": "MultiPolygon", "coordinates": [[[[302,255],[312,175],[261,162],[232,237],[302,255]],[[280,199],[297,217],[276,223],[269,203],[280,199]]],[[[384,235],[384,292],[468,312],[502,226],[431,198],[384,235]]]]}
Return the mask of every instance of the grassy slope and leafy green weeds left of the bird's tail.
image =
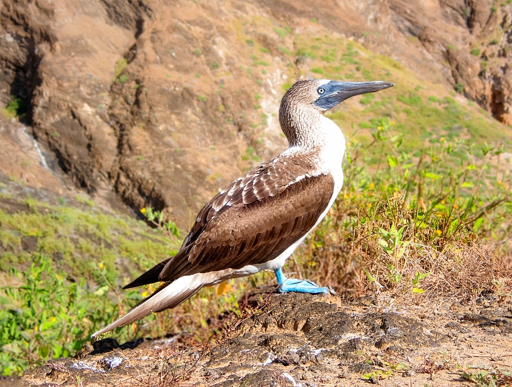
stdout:
{"type": "MultiPolygon", "coordinates": [[[[0,202],[12,200],[0,191],[0,202]]],[[[96,329],[141,300],[139,290],[121,294],[121,287],[178,247],[174,224],[153,231],[104,213],[89,199],[76,200],[74,207],[66,199],[50,206],[28,197],[19,203],[25,210],[14,213],[0,206],[0,374],[78,351],[96,329]],[[27,238],[35,241],[32,252],[20,248],[27,238]]]]}

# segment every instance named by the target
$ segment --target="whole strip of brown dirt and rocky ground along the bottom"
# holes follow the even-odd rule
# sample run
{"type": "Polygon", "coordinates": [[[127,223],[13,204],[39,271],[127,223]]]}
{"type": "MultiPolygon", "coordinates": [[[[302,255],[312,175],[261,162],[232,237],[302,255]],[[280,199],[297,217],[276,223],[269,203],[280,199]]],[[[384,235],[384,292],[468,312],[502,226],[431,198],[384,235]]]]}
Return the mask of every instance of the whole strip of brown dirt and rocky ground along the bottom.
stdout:
{"type": "Polygon", "coordinates": [[[481,370],[487,375],[480,374],[480,385],[512,382],[510,300],[493,295],[468,305],[432,300],[380,310],[376,303],[257,294],[252,312],[215,345],[187,347],[179,336],[121,346],[104,339],[0,385],[469,386],[477,384],[463,373],[476,380],[481,370]]]}

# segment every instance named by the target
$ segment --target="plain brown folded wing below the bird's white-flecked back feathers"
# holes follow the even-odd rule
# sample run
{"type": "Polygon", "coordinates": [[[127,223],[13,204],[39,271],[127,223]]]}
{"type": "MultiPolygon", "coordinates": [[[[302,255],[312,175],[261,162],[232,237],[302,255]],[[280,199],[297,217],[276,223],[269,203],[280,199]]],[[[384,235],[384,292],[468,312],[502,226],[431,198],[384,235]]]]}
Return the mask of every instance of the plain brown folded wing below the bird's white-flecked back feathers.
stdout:
{"type": "Polygon", "coordinates": [[[279,195],[228,207],[184,246],[182,254],[166,263],[159,280],[238,269],[278,257],[311,230],[326,210],[333,190],[331,175],[305,177],[279,195]]]}

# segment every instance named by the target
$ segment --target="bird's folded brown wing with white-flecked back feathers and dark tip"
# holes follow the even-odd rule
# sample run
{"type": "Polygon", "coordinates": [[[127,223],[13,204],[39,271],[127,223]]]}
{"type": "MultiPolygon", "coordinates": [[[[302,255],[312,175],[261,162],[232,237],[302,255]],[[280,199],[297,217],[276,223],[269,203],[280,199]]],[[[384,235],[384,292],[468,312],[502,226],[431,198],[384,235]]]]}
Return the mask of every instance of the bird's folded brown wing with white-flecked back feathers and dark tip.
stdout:
{"type": "Polygon", "coordinates": [[[267,162],[234,181],[199,212],[176,256],[125,288],[279,256],[313,227],[334,190],[330,175],[307,177],[311,165],[296,160],[267,162]],[[295,182],[296,176],[304,177],[295,182]]]}

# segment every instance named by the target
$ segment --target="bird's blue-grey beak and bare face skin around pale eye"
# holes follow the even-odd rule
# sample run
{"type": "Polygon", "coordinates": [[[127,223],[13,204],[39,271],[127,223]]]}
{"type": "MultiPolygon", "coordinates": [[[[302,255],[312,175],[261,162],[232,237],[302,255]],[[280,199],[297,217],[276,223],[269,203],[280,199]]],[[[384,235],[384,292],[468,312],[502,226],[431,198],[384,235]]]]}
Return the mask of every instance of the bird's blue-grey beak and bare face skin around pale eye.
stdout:
{"type": "Polygon", "coordinates": [[[339,82],[330,81],[322,86],[318,86],[316,92],[318,99],[314,105],[329,110],[338,103],[345,101],[347,98],[357,96],[358,94],[366,94],[378,92],[388,87],[394,86],[393,83],[374,81],[374,82],[339,82]]]}

